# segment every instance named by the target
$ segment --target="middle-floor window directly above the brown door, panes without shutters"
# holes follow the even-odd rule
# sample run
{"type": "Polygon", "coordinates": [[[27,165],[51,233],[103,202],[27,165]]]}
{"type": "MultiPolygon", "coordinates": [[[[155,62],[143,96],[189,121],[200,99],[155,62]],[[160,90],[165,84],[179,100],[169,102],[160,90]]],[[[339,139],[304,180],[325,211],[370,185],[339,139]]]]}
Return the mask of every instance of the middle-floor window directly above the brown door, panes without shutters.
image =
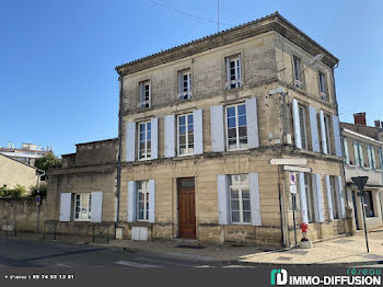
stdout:
{"type": "Polygon", "coordinates": [[[193,114],[178,116],[178,154],[194,153],[193,114]]]}

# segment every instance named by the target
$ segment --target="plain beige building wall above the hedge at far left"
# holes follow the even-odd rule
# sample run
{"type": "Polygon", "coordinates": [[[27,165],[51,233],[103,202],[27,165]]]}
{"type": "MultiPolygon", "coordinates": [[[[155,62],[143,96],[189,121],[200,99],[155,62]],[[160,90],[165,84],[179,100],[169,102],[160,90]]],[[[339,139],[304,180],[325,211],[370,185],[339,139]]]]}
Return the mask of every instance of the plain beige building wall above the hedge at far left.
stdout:
{"type": "Polygon", "coordinates": [[[28,190],[38,184],[44,171],[0,153],[0,187],[14,188],[18,184],[28,190]]]}

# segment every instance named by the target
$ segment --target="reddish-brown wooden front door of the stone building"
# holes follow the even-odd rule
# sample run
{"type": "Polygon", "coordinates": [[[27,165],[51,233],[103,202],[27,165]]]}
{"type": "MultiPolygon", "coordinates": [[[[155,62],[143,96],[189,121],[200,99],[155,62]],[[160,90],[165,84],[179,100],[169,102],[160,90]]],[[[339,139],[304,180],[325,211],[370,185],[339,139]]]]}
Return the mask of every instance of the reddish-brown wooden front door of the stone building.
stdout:
{"type": "Polygon", "coordinates": [[[196,238],[194,177],[178,180],[178,237],[196,238]]]}

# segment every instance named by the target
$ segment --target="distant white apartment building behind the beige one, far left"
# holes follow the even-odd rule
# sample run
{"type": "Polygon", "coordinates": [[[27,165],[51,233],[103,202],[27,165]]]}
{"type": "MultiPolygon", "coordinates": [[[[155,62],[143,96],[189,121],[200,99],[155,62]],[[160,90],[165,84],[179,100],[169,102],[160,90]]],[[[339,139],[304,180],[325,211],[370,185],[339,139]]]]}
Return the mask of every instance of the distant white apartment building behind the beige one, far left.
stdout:
{"type": "Polygon", "coordinates": [[[14,144],[8,142],[8,148],[0,147],[0,153],[11,157],[18,161],[24,162],[30,165],[35,165],[35,160],[43,157],[46,153],[53,153],[53,147],[46,148],[37,147],[35,144],[22,144],[21,149],[14,148],[14,144]]]}

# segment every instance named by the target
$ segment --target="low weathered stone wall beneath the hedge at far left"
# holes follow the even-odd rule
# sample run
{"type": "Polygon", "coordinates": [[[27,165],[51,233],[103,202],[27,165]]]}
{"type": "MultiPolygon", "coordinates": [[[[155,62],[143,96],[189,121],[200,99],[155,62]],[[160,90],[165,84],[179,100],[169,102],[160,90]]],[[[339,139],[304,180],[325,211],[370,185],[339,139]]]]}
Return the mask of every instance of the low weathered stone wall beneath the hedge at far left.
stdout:
{"type": "MultiPolygon", "coordinates": [[[[39,207],[38,231],[44,228],[44,198],[39,207]]],[[[37,225],[37,206],[35,198],[0,198],[0,225],[8,220],[18,221],[18,231],[35,232],[37,225]]],[[[1,227],[0,227],[1,228],[1,227]]]]}

